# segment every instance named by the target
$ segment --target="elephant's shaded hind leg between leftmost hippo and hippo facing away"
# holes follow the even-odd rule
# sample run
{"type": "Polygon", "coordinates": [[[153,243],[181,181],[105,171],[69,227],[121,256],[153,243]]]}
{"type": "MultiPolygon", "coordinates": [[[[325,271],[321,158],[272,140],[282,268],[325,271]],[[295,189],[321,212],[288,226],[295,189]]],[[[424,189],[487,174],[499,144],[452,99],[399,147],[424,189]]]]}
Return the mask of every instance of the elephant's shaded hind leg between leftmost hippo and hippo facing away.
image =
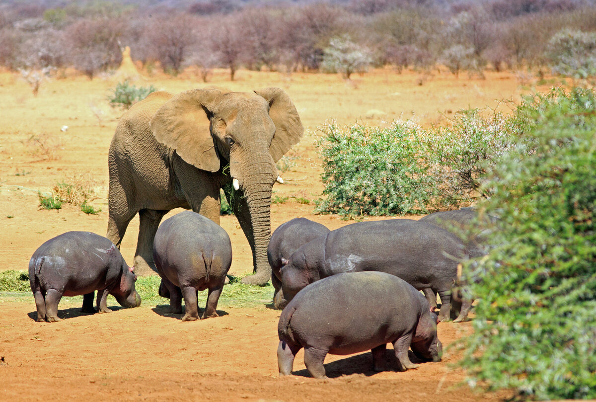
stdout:
{"type": "Polygon", "coordinates": [[[151,270],[157,272],[153,262],[153,241],[159,222],[169,211],[157,211],[155,209],[141,209],[139,211],[139,239],[136,242],[135,252],[135,273],[138,275],[151,274],[151,270]]]}

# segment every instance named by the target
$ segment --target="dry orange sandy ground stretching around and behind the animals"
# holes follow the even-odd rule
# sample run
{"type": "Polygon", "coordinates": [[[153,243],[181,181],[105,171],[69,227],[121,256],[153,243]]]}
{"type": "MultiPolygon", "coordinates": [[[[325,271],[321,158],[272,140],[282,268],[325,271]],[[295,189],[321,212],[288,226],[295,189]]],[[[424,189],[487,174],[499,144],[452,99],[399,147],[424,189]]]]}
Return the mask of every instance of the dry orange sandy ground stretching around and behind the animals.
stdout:
{"type": "MultiPolygon", "coordinates": [[[[198,77],[188,70],[177,78],[141,73],[132,79],[135,85],[180,92],[203,86],[198,77]]],[[[105,234],[107,150],[123,113],[111,109],[107,95],[122,78],[121,72],[89,81],[61,72],[42,82],[35,97],[20,76],[0,73],[0,270],[27,270],[33,251],[65,231],[105,234]],[[38,191],[49,193],[57,183],[91,188],[97,197],[89,203],[102,211],[86,215],[68,204],[58,211],[40,209],[38,191]]],[[[531,90],[522,84],[531,86],[532,79],[528,81],[527,73],[488,72],[486,79],[457,79],[439,70],[400,75],[383,69],[352,81],[337,75],[240,71],[237,81],[229,82],[221,70],[209,84],[238,91],[280,86],[290,94],[306,133],[288,153],[285,183],[274,187],[274,196],[288,199],[272,205],[272,228],[307,217],[333,229],[349,221],[313,213],[313,201],[322,191],[314,146],[318,126],[328,119],[340,125],[386,125],[411,117],[430,125],[445,122],[458,109],[488,106],[506,111],[502,100],[519,100],[531,90]],[[311,203],[297,202],[300,198],[311,203]]],[[[222,217],[221,224],[232,240],[231,273],[243,276],[252,268],[249,245],[234,217],[222,217]]],[[[138,218],[122,243],[129,263],[137,230],[138,218]]],[[[458,385],[465,377],[452,367],[458,358],[452,351],[441,363],[405,373],[371,372],[370,352],[328,356],[331,379],[325,381],[309,378],[300,352],[296,375],[280,379],[275,357],[280,312],[267,304],[222,307],[221,317],[182,323],[179,316],[164,314],[163,305],[87,316],[78,313],[78,302],[65,298],[59,315],[66,319],[48,324],[33,321],[32,296],[0,293],[0,400],[470,401],[508,396],[479,394],[458,385]]],[[[117,304],[110,298],[108,305],[117,304]]],[[[449,345],[468,330],[470,323],[442,323],[439,336],[449,345]]],[[[395,367],[390,352],[387,359],[395,367]]]]}

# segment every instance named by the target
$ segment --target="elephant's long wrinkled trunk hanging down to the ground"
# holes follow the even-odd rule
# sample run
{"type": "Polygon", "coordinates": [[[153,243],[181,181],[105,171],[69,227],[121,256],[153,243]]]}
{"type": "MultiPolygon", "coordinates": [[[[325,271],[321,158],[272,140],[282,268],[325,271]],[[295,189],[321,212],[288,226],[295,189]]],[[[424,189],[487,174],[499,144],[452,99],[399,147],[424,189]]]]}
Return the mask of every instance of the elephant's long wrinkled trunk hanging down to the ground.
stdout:
{"type": "Polygon", "coordinates": [[[271,266],[267,259],[267,246],[271,237],[271,188],[277,179],[277,169],[272,159],[253,161],[254,169],[259,172],[248,174],[243,181],[243,191],[248,204],[252,239],[249,243],[253,251],[254,275],[247,276],[243,283],[265,285],[271,279],[271,266]]]}

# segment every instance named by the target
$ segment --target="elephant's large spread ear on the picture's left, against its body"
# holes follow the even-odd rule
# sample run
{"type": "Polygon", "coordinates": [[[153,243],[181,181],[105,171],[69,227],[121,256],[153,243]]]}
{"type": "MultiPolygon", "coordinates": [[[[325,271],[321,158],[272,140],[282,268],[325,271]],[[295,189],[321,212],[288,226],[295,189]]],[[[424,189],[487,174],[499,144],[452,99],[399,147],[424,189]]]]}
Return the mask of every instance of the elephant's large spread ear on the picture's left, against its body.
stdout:
{"type": "Polygon", "coordinates": [[[219,154],[209,128],[211,112],[221,91],[191,89],[172,97],[151,119],[153,135],[176,150],[185,162],[209,172],[220,167],[219,154]]]}

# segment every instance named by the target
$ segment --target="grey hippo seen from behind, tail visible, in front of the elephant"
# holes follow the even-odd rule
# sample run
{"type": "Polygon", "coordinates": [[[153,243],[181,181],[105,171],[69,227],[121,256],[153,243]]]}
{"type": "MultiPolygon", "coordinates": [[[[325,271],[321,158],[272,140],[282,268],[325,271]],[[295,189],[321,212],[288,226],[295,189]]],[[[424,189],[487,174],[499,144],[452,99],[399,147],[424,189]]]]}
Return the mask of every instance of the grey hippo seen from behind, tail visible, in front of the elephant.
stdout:
{"type": "Polygon", "coordinates": [[[157,229],[153,259],[162,277],[159,295],[170,299],[172,313],[182,313],[184,298],[182,321],[198,320],[197,292],[209,289],[201,319],[218,317],[219,296],[232,265],[232,244],[221,226],[195,212],[180,212],[157,229]]]}

